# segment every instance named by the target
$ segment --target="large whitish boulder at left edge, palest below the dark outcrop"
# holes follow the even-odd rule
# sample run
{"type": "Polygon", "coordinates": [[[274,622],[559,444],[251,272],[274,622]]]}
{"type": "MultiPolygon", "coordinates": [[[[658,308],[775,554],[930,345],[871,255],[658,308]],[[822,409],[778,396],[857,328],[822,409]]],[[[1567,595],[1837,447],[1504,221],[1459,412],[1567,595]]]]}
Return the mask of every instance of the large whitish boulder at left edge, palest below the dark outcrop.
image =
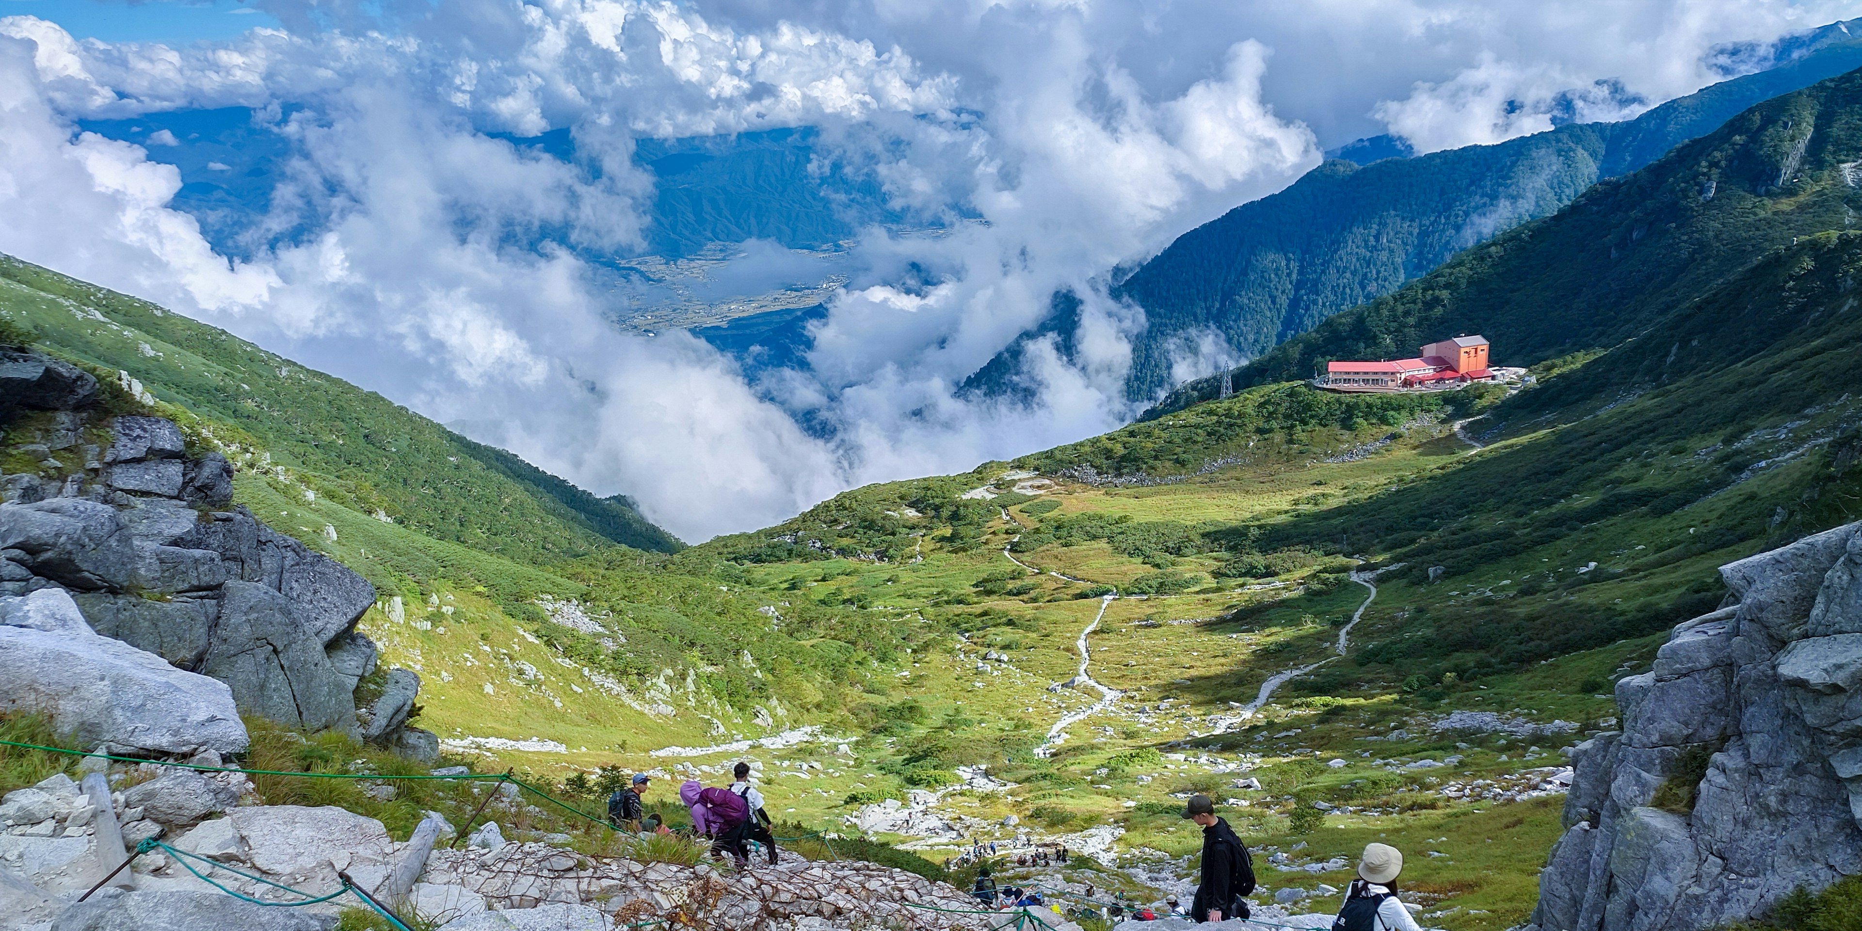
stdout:
{"type": "Polygon", "coordinates": [[[99,637],[61,590],[0,598],[0,711],[47,711],[84,747],[222,754],[246,750],[233,691],[127,642],[99,637]],[[32,605],[19,605],[32,601],[32,605]],[[50,629],[47,629],[50,627],[50,629]]]}

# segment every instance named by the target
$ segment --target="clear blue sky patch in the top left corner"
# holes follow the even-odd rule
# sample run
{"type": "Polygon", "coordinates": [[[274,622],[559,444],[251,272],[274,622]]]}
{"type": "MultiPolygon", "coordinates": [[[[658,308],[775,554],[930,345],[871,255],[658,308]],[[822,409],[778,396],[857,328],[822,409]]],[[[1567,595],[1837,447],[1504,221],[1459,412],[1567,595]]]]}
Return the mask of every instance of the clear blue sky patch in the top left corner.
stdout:
{"type": "Polygon", "coordinates": [[[242,0],[0,0],[0,17],[34,15],[76,39],[192,43],[231,39],[277,20],[242,0]]]}

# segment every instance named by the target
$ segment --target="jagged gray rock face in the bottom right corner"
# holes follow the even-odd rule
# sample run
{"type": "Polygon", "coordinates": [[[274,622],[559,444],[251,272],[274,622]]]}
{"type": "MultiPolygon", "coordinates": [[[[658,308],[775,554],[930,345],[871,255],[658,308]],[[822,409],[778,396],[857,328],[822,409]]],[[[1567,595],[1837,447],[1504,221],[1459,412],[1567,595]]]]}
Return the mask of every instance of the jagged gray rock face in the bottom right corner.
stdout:
{"type": "Polygon", "coordinates": [[[1707,929],[1862,873],[1862,523],[1720,577],[1735,603],[1678,626],[1616,683],[1622,732],[1575,749],[1529,929],[1707,929]],[[1693,810],[1653,808],[1706,754],[1693,810]]]}

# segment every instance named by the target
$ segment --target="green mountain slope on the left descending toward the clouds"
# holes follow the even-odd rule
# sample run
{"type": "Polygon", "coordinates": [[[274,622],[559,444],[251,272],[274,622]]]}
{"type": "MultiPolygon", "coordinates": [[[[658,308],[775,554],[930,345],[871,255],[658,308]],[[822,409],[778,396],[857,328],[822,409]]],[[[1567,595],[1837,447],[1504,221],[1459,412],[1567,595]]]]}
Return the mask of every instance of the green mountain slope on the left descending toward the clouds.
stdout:
{"type": "Polygon", "coordinates": [[[681,544],[626,501],[594,495],[387,398],[186,317],[0,257],[0,304],[65,354],[127,371],[156,398],[236,425],[318,493],[512,559],[611,542],[681,544]]]}

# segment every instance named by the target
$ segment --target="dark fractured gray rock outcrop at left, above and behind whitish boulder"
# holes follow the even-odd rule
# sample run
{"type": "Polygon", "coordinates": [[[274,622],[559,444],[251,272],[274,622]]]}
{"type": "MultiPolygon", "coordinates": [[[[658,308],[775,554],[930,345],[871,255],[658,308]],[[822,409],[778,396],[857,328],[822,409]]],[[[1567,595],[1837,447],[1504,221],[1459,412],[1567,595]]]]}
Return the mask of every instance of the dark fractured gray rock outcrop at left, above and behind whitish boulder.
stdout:
{"type": "MultiPolygon", "coordinates": [[[[384,747],[438,752],[438,739],[406,726],[412,695],[397,691],[398,715],[365,709],[358,721],[356,687],[376,668],[374,642],[356,631],[374,603],[367,579],[229,506],[231,466],[216,452],[190,456],[175,423],[97,412],[89,374],[0,350],[0,384],[9,378],[28,389],[0,425],[15,451],[45,458],[35,473],[0,475],[0,603],[60,588],[88,631],[223,681],[246,713],[358,737],[367,724],[384,747]]],[[[127,655],[93,641],[60,655],[78,646],[102,654],[93,670],[127,655]]],[[[43,685],[0,680],[0,700],[61,689],[43,685]]],[[[123,747],[156,749],[145,743],[123,747]]]]}

